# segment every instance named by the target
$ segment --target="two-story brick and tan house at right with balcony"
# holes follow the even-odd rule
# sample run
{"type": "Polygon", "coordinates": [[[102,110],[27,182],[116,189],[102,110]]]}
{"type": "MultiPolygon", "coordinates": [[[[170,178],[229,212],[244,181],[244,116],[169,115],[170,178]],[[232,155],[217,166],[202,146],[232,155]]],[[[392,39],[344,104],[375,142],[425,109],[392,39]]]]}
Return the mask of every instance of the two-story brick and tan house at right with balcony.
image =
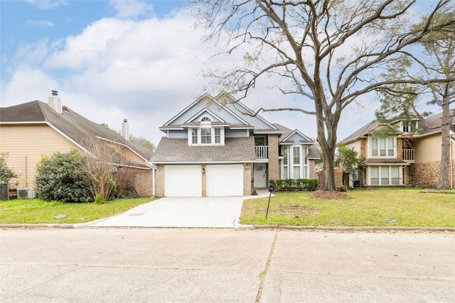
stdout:
{"type": "MultiPolygon", "coordinates": [[[[454,114],[455,110],[451,110],[451,188],[454,188],[455,181],[454,114]]],[[[360,186],[437,187],[441,163],[441,116],[442,114],[436,114],[425,121],[412,121],[421,130],[417,133],[410,133],[410,126],[396,121],[392,127],[397,131],[387,138],[373,136],[373,131],[384,127],[373,120],[341,141],[346,146],[355,148],[366,159],[367,167],[359,172],[360,186]]]]}

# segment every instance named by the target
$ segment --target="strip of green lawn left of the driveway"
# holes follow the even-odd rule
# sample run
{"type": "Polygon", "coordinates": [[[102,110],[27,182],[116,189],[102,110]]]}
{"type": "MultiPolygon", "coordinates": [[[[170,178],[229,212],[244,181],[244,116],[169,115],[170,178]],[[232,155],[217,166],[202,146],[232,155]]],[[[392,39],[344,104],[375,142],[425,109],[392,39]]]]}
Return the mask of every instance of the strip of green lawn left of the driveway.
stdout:
{"type": "Polygon", "coordinates": [[[122,213],[152,198],[115,199],[105,204],[45,202],[43,199],[0,201],[0,224],[75,224],[122,213]],[[64,219],[54,216],[65,214],[64,219]]]}

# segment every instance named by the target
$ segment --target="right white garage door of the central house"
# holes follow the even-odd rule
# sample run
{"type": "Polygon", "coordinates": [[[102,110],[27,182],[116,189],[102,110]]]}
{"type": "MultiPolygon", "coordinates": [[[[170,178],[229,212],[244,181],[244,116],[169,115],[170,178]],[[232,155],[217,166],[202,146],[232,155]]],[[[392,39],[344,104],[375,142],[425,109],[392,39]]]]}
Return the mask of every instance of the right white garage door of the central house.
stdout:
{"type": "Polygon", "coordinates": [[[209,197],[243,196],[243,165],[207,165],[209,197]]]}

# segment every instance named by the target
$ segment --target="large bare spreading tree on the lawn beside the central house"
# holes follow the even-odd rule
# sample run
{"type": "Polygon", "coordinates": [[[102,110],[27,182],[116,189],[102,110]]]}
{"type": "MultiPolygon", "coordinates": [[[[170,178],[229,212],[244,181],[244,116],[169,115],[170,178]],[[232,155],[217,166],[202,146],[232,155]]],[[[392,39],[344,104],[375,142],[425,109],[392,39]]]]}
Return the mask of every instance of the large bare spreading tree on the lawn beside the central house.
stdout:
{"type": "Polygon", "coordinates": [[[259,79],[278,76],[282,93],[298,94],[304,101],[295,107],[263,107],[257,113],[300,111],[316,116],[324,190],[335,189],[333,166],[341,112],[360,102],[361,96],[405,82],[383,79],[381,72],[400,52],[412,53],[412,46],[422,38],[454,23],[432,26],[437,13],[449,6],[449,0],[439,0],[431,3],[421,25],[413,27],[416,2],[193,1],[203,26],[211,29],[207,40],[222,48],[218,55],[229,60],[230,55],[244,52],[244,66],[208,72],[215,85],[240,100],[259,79]]]}

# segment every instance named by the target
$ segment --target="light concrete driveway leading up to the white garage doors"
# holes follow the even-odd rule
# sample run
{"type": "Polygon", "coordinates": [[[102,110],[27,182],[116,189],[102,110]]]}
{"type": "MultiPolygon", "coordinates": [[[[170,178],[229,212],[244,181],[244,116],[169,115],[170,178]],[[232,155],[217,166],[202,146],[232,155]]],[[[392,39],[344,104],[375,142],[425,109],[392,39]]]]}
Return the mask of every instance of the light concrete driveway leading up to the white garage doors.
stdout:
{"type": "MultiPolygon", "coordinates": [[[[257,196],[255,196],[257,197],[257,196]]],[[[79,227],[238,227],[244,197],[165,197],[79,227]]]]}

